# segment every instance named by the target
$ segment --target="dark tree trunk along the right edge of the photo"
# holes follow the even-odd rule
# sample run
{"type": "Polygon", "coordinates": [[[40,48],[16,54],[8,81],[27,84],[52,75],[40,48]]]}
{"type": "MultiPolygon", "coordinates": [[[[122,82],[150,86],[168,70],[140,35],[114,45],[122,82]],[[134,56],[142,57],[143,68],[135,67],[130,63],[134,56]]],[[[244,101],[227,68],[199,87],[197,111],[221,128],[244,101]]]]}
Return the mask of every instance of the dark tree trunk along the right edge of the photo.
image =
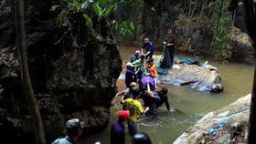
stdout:
{"type": "MultiPolygon", "coordinates": [[[[249,36],[252,39],[252,46],[254,48],[254,57],[256,51],[256,3],[254,0],[243,0],[244,12],[245,12],[245,24],[247,26],[247,31],[249,36]]],[[[254,78],[253,78],[253,87],[251,93],[251,110],[250,110],[250,119],[249,119],[249,134],[248,134],[248,143],[255,144],[256,139],[256,65],[254,62],[254,78]]]]}

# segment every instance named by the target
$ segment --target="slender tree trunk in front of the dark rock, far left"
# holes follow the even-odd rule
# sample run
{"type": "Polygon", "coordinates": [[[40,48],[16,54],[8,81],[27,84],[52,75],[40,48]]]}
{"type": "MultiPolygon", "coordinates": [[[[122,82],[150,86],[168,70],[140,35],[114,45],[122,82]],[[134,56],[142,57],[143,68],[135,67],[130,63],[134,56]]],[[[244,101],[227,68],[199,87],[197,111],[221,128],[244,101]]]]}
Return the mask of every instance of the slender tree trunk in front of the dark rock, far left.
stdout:
{"type": "Polygon", "coordinates": [[[16,37],[17,47],[21,56],[21,74],[23,87],[27,98],[27,105],[32,115],[37,143],[45,144],[46,139],[44,126],[37,106],[37,99],[34,96],[34,90],[31,85],[27,67],[27,46],[25,42],[26,35],[24,26],[24,0],[16,0],[16,37]]]}

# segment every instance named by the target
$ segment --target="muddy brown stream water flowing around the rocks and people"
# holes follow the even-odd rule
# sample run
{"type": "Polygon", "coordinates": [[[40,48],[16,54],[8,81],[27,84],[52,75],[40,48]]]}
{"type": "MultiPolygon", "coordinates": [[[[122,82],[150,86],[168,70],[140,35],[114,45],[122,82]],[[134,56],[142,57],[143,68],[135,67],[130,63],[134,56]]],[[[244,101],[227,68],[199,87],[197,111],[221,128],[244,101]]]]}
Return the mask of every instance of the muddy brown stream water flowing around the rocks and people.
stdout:
{"type": "MultiPolygon", "coordinates": [[[[136,47],[121,47],[120,51],[123,61],[129,60],[135,49],[136,47]]],[[[157,54],[160,55],[161,52],[157,52],[157,54]]],[[[252,66],[234,63],[222,64],[212,60],[208,60],[208,64],[218,68],[224,84],[224,92],[220,94],[209,94],[198,92],[189,87],[162,85],[169,89],[168,98],[171,107],[177,108],[185,114],[168,113],[164,104],[158,109],[157,118],[141,120],[139,122],[140,129],[150,136],[154,144],[174,142],[188,127],[194,125],[198,119],[202,118],[208,112],[229,105],[229,103],[236,99],[251,93],[253,78],[252,66]]],[[[123,81],[118,81],[117,85],[119,91],[123,90],[123,81]]],[[[122,106],[118,102],[111,108],[111,122],[116,120],[119,109],[122,109],[122,106]]],[[[111,123],[108,129],[105,129],[101,133],[88,136],[82,139],[80,143],[94,144],[96,141],[100,141],[101,144],[109,144],[110,127],[111,123]]],[[[127,127],[125,130],[127,132],[127,127]]],[[[126,143],[131,143],[128,133],[126,133],[126,143]]]]}

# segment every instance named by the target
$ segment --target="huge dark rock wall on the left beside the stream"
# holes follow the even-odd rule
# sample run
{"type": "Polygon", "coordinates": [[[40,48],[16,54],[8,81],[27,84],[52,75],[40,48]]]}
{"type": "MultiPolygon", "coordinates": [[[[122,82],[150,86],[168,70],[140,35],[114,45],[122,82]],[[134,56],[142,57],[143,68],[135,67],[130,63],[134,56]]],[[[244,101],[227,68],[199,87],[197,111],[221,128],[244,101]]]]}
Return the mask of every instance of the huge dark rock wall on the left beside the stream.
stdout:
{"type": "MultiPolygon", "coordinates": [[[[15,47],[13,3],[4,2],[0,7],[5,12],[0,15],[0,46],[15,47]]],[[[71,27],[60,26],[56,23],[59,13],[49,11],[51,5],[50,1],[25,5],[27,63],[48,143],[63,132],[69,118],[82,119],[85,132],[105,129],[122,71],[116,41],[104,19],[91,17],[97,36],[90,36],[81,13],[70,14],[71,27]]],[[[9,49],[0,53],[4,57],[0,58],[4,59],[0,62],[0,134],[5,138],[2,134],[11,129],[20,139],[27,138],[25,135],[34,138],[20,67],[14,58],[16,48],[9,49]],[[9,59],[5,55],[10,55],[9,59]],[[12,60],[17,64],[10,65],[12,60]]]]}

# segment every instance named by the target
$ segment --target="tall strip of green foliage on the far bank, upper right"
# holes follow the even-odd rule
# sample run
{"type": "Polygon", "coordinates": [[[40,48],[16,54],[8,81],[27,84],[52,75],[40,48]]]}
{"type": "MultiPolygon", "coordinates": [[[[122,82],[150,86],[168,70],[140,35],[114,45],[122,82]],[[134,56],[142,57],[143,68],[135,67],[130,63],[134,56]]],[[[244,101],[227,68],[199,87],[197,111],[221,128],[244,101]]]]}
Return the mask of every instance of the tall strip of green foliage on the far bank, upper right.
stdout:
{"type": "Polygon", "coordinates": [[[230,22],[231,15],[222,0],[218,0],[213,13],[215,20],[213,30],[214,57],[219,60],[229,60],[231,57],[230,22]]]}

